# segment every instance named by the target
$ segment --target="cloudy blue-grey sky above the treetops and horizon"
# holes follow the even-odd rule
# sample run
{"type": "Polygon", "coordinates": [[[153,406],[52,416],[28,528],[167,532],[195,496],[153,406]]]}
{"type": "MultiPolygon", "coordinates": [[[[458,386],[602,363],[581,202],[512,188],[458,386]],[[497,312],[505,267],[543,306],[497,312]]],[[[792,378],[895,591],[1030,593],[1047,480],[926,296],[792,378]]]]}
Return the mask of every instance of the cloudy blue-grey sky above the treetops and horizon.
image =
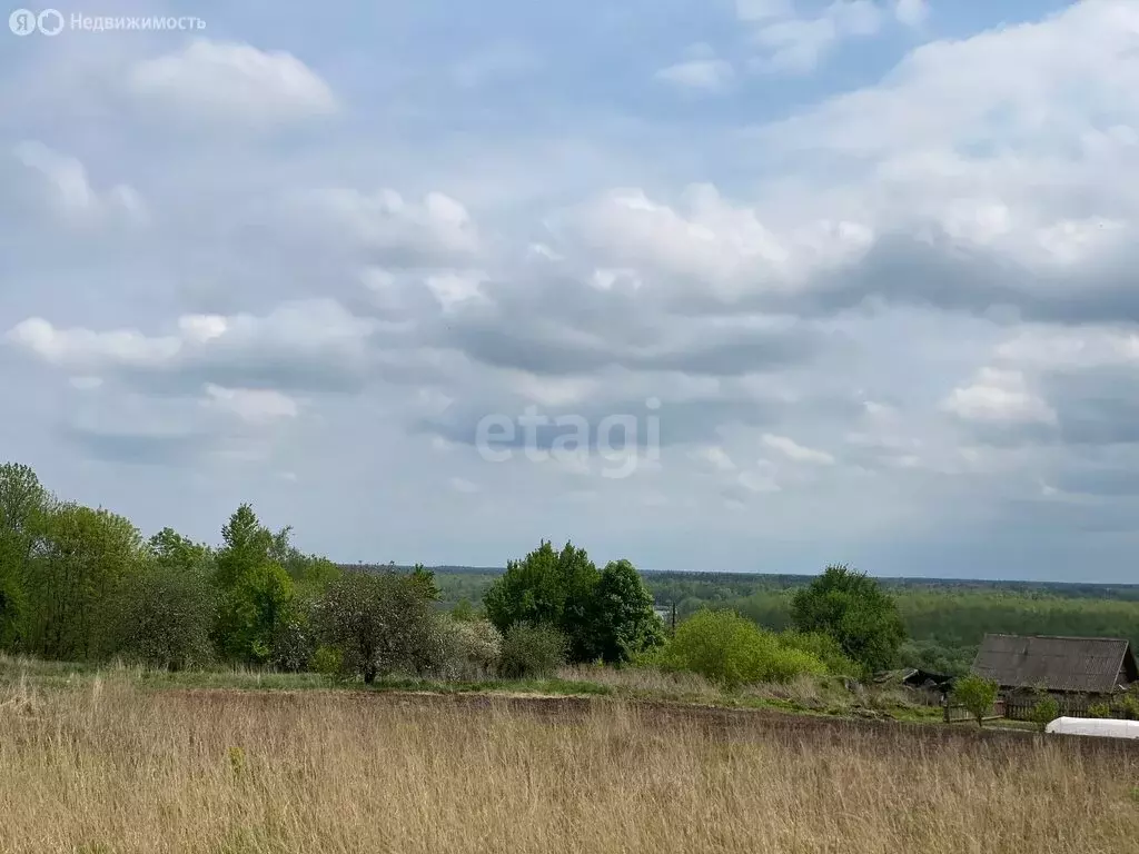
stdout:
{"type": "Polygon", "coordinates": [[[1133,0],[57,9],[0,30],[0,458],[62,498],[1139,581],[1133,0]]]}

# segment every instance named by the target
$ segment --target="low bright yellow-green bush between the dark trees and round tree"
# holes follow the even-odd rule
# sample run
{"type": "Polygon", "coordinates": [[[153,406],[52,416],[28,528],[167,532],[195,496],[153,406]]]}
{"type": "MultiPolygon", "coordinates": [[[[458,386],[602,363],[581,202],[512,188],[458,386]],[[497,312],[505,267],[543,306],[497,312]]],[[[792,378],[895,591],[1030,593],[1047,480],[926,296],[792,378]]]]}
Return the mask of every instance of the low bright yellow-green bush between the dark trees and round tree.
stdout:
{"type": "Polygon", "coordinates": [[[728,689],[827,673],[811,652],[781,644],[778,635],[729,610],[689,617],[655,658],[665,670],[698,673],[728,689]]]}

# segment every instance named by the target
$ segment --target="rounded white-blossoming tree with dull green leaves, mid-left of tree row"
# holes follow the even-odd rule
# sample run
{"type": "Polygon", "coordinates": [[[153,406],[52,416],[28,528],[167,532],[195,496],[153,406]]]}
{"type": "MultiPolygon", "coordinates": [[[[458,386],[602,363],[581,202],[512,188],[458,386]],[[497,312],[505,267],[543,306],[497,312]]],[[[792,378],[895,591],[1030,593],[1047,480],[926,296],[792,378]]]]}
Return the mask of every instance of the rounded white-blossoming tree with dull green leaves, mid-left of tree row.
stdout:
{"type": "Polygon", "coordinates": [[[416,672],[429,649],[434,610],[421,580],[401,573],[345,573],[314,615],[321,641],[341,651],[345,675],[364,684],[416,672]]]}

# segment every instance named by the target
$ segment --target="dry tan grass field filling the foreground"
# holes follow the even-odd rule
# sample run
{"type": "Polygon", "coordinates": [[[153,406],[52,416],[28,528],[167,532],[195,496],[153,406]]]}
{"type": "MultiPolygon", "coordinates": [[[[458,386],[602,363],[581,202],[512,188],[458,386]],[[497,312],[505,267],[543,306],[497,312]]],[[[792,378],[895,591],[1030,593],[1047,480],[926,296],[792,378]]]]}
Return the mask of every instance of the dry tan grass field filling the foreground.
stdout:
{"type": "Polygon", "coordinates": [[[0,688],[3,852],[1139,849],[1139,750],[613,700],[0,688]]]}

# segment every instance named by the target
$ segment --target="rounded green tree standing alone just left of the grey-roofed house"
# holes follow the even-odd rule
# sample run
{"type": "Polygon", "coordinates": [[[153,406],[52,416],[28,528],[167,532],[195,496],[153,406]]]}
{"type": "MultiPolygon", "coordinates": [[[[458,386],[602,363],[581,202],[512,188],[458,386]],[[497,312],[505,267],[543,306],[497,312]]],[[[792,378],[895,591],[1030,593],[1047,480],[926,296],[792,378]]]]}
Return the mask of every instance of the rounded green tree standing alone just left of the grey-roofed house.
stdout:
{"type": "Polygon", "coordinates": [[[893,665],[906,640],[894,598],[866,573],[828,566],[795,593],[792,622],[801,632],[829,634],[847,656],[870,671],[893,665]]]}

